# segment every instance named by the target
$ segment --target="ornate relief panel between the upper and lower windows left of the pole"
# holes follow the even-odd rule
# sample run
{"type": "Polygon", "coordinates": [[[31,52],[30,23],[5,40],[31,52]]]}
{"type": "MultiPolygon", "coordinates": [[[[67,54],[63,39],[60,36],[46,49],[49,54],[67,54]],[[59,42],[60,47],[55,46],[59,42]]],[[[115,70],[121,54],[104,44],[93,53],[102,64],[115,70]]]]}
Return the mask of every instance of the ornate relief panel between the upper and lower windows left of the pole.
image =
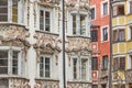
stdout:
{"type": "Polygon", "coordinates": [[[46,33],[45,34],[36,33],[34,35],[34,38],[36,38],[36,43],[33,46],[36,50],[37,62],[40,62],[38,58],[41,53],[55,54],[56,56],[57,53],[62,51],[59,47],[59,44],[62,43],[62,41],[58,40],[56,35],[46,34],[46,33]]]}

